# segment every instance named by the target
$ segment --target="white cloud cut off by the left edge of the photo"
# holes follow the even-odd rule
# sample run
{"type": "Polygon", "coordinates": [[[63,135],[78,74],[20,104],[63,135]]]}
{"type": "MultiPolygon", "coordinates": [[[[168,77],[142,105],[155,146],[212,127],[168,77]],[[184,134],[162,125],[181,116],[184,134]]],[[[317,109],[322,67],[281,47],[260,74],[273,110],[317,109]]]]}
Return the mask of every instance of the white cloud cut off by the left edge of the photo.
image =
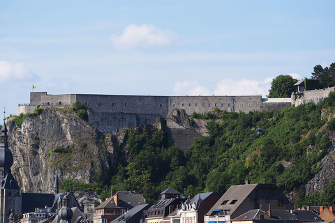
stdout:
{"type": "Polygon", "coordinates": [[[39,81],[40,77],[31,72],[23,63],[0,61],[0,82],[7,80],[39,81]]]}

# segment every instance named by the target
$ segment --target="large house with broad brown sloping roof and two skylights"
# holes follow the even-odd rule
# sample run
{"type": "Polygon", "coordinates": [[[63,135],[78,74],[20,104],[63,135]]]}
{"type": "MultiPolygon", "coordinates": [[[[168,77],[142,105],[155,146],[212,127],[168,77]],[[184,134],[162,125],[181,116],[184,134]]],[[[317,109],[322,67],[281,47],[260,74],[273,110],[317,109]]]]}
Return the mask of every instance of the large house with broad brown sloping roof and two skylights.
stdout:
{"type": "Polygon", "coordinates": [[[248,210],[292,210],[285,194],[274,184],[232,185],[204,216],[204,222],[230,222],[248,210]]]}

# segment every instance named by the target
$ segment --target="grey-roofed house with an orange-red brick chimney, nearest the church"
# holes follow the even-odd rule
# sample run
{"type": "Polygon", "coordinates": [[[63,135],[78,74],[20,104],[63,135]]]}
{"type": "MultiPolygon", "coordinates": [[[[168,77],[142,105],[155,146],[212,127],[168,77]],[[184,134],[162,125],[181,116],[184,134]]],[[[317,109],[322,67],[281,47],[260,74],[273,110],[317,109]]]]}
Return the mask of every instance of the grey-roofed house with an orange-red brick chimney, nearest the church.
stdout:
{"type": "Polygon", "coordinates": [[[131,191],[112,190],[111,197],[96,207],[93,215],[94,223],[109,223],[120,215],[123,215],[131,208],[146,201],[142,193],[131,191]]]}

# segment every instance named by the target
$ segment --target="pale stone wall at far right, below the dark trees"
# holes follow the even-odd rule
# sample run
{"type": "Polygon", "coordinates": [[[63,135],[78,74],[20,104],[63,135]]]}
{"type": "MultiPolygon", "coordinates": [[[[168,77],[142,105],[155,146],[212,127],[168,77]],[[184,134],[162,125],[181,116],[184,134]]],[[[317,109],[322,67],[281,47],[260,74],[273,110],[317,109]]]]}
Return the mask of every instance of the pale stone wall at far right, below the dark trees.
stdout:
{"type": "Polygon", "coordinates": [[[320,90],[293,92],[291,95],[292,105],[298,106],[303,103],[314,102],[315,104],[327,98],[335,87],[320,90]]]}

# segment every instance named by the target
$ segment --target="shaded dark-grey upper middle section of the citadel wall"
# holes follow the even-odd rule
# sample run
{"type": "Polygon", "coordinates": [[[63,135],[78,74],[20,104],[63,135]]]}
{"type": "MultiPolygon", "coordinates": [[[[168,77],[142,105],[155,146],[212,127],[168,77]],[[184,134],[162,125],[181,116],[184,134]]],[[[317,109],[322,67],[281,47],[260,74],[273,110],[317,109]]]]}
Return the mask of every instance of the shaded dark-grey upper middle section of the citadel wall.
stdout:
{"type": "Polygon", "coordinates": [[[94,112],[124,112],[168,115],[168,97],[137,95],[76,95],[76,100],[94,112]]]}

